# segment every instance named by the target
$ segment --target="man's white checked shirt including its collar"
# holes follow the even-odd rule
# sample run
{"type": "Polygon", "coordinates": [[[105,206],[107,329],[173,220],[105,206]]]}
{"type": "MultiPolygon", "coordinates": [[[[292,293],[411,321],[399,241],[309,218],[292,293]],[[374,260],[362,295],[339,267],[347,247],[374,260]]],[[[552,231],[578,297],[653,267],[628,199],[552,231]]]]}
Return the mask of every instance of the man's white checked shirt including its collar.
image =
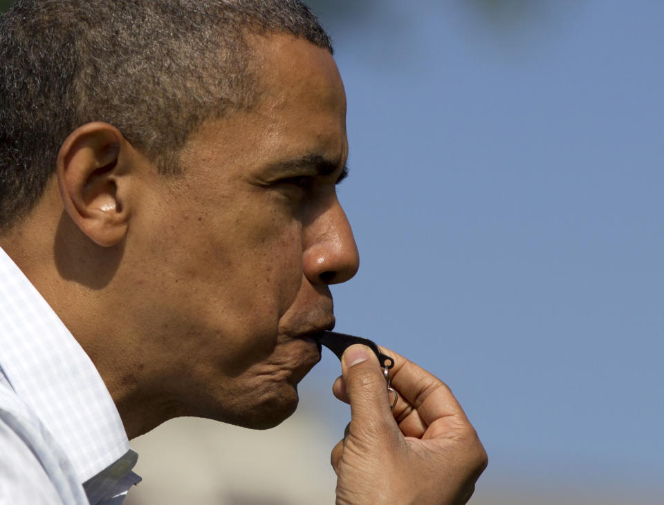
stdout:
{"type": "Polygon", "coordinates": [[[0,249],[0,504],[118,505],[137,457],[92,361],[0,249]]]}

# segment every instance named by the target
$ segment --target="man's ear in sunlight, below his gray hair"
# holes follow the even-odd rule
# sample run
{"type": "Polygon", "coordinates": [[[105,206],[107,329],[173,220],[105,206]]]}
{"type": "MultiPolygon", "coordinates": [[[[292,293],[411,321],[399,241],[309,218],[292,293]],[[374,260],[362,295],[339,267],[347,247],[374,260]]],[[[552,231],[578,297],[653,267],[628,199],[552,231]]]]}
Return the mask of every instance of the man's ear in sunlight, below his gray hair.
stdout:
{"type": "Polygon", "coordinates": [[[93,242],[104,247],[127,235],[130,144],[115,126],[87,123],[76,128],[57,155],[57,182],[64,209],[93,242]],[[126,161],[127,160],[127,161],[126,161]]]}

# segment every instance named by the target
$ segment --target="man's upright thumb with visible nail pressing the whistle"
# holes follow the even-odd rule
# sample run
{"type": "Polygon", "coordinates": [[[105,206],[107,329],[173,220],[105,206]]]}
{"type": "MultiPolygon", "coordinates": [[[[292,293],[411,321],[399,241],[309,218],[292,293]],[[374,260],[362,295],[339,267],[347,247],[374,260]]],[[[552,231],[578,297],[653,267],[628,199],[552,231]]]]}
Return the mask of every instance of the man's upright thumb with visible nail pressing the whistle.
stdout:
{"type": "Polygon", "coordinates": [[[374,352],[366,345],[351,345],[342,356],[341,372],[351,404],[351,434],[363,438],[391,429],[395,421],[387,383],[374,352]]]}

